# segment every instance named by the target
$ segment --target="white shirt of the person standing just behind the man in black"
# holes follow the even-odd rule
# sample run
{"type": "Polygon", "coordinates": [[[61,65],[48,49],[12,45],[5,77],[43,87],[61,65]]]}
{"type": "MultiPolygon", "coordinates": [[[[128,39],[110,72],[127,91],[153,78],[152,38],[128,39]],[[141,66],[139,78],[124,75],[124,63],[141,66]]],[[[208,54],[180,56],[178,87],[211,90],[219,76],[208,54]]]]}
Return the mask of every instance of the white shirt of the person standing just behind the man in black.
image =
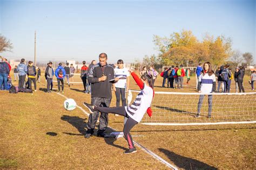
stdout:
{"type": "Polygon", "coordinates": [[[127,80],[127,77],[130,76],[128,69],[127,68],[115,68],[114,69],[114,77],[118,77],[118,76],[122,76],[122,78],[120,78],[118,80],[118,82],[114,84],[114,86],[117,88],[126,88],[126,86],[127,86],[126,80],[127,80]]]}

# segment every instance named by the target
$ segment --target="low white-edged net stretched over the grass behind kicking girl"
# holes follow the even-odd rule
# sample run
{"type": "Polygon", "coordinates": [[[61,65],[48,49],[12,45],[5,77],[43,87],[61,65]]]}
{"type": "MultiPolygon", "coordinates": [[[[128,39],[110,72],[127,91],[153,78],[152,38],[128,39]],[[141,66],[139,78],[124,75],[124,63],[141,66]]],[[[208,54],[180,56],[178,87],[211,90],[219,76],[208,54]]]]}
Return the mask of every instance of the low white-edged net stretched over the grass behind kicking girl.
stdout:
{"type": "MultiPolygon", "coordinates": [[[[132,97],[139,91],[132,90],[132,97]]],[[[147,125],[210,125],[256,123],[256,93],[212,93],[211,117],[208,117],[208,94],[204,94],[200,117],[199,93],[155,91],[151,108],[153,117],[145,115],[147,125]]]]}

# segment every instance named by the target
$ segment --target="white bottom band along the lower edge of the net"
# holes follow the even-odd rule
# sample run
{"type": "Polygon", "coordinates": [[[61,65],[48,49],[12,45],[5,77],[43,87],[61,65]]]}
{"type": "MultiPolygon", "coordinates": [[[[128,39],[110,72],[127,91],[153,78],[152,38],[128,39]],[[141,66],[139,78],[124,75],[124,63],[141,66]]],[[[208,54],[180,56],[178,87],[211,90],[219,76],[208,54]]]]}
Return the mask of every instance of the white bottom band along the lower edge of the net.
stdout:
{"type": "Polygon", "coordinates": [[[221,124],[248,124],[256,123],[256,121],[248,122],[216,122],[216,123],[142,123],[144,125],[163,125],[163,126],[183,126],[183,125],[221,125],[221,124]]]}

